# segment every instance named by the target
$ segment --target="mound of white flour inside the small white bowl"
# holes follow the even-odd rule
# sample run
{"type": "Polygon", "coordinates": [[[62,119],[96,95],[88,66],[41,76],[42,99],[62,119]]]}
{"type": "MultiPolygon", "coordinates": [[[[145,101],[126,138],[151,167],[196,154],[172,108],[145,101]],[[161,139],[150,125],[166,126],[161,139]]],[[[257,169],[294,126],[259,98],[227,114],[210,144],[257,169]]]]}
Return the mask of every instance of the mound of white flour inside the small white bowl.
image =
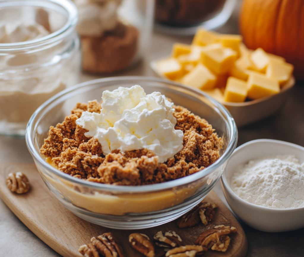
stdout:
{"type": "Polygon", "coordinates": [[[269,208],[304,207],[304,163],[292,155],[249,161],[237,167],[232,190],[245,201],[269,208]]]}

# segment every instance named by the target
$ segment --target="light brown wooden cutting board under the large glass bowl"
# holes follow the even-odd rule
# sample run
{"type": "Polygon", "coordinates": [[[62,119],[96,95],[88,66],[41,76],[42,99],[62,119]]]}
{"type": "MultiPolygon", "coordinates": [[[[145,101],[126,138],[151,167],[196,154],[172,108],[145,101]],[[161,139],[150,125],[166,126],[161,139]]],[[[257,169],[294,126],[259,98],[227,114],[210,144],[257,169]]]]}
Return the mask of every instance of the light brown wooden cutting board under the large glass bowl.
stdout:
{"type": "MultiPolygon", "coordinates": [[[[0,197],[12,212],[43,242],[64,257],[82,256],[78,252],[80,245],[90,243],[90,238],[105,232],[112,232],[121,243],[129,257],[143,257],[128,243],[128,236],[140,232],[153,238],[158,231],[174,230],[183,239],[185,244],[193,244],[197,236],[206,230],[206,227],[196,225],[190,228],[178,228],[176,221],[147,229],[117,230],[92,224],[68,211],[48,190],[41,179],[34,164],[0,163],[0,197]],[[29,178],[30,191],[18,195],[12,193],[5,184],[5,178],[10,173],[23,172],[29,178]]],[[[226,208],[219,197],[211,191],[206,201],[216,202],[218,208],[211,224],[230,225],[236,227],[238,232],[230,235],[231,241],[226,252],[208,250],[205,253],[210,257],[243,257],[247,253],[247,238],[243,228],[233,214],[226,208]]]]}

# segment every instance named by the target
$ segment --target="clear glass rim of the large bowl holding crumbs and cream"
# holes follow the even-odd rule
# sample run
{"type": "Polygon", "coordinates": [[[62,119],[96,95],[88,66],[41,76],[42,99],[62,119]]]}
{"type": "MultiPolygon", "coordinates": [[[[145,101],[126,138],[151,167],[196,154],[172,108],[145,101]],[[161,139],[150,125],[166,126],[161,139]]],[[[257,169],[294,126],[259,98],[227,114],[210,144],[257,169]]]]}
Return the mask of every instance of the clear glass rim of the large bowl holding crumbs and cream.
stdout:
{"type": "Polygon", "coordinates": [[[228,160],[230,155],[232,154],[234,148],[237,145],[237,126],[236,123],[229,113],[229,111],[219,102],[211,98],[210,96],[203,93],[201,90],[197,90],[194,88],[190,88],[188,86],[184,86],[179,83],[175,83],[168,79],[161,79],[156,77],[150,77],[150,76],[116,76],[116,77],[107,77],[107,78],[101,78],[101,79],[94,79],[89,80],[83,83],[79,83],[75,86],[72,86],[70,88],[67,88],[53,97],[51,97],[49,100],[44,102],[38,109],[33,113],[32,117],[30,118],[27,127],[26,127],[26,145],[29,149],[30,154],[33,156],[34,161],[38,162],[44,169],[50,171],[51,173],[55,174],[56,176],[59,176],[60,178],[63,178],[65,180],[68,180],[75,184],[80,184],[82,186],[95,188],[98,190],[104,190],[104,191],[116,191],[116,192],[128,192],[128,193],[147,193],[147,192],[153,192],[153,191],[161,191],[166,190],[170,188],[176,188],[179,186],[183,186],[192,182],[195,182],[199,180],[200,178],[205,177],[206,175],[212,173],[212,171],[216,170],[218,167],[220,167],[225,161],[228,160]],[[227,144],[226,150],[224,151],[223,155],[219,157],[219,159],[211,164],[210,166],[206,167],[203,170],[200,170],[194,174],[188,175],[183,178],[178,178],[172,181],[167,181],[163,183],[158,184],[150,184],[150,185],[139,185],[139,186],[123,186],[123,185],[109,185],[109,184],[101,184],[96,182],[90,182],[90,181],[84,181],[78,178],[74,178],[69,174],[65,174],[64,172],[61,172],[57,170],[56,168],[52,167],[50,164],[48,164],[43,158],[40,156],[40,154],[36,151],[32,136],[34,136],[34,120],[36,117],[40,114],[40,112],[46,108],[49,104],[54,102],[55,100],[59,99],[60,97],[67,95],[68,93],[73,92],[74,90],[78,90],[80,88],[83,88],[85,86],[90,86],[97,83],[107,83],[107,82],[113,82],[113,81],[133,81],[133,80],[145,80],[145,81],[151,81],[151,82],[159,82],[159,83],[167,83],[171,84],[173,86],[177,86],[178,88],[181,88],[182,90],[192,91],[192,93],[198,94],[199,96],[202,96],[204,98],[207,98],[217,109],[220,110],[220,112],[226,117],[226,123],[228,123],[228,129],[230,131],[230,142],[227,144]]]}

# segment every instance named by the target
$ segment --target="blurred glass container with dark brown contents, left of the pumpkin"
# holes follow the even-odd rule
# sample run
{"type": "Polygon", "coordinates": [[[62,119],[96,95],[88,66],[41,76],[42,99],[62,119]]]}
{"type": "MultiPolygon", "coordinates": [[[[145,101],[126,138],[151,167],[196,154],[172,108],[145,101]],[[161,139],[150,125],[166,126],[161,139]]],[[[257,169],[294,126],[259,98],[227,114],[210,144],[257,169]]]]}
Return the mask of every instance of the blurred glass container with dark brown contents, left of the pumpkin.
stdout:
{"type": "Polygon", "coordinates": [[[226,23],[236,0],[155,0],[155,29],[190,36],[198,27],[211,30],[226,23]]]}

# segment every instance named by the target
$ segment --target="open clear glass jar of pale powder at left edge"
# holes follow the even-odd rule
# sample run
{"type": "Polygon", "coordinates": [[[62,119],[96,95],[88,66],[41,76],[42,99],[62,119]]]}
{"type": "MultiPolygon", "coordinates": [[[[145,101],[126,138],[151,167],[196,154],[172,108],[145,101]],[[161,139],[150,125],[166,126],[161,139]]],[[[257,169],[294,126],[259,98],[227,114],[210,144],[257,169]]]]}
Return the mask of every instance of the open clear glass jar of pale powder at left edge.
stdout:
{"type": "Polygon", "coordinates": [[[0,135],[24,137],[37,107],[78,83],[77,20],[69,0],[0,0],[0,135]]]}

